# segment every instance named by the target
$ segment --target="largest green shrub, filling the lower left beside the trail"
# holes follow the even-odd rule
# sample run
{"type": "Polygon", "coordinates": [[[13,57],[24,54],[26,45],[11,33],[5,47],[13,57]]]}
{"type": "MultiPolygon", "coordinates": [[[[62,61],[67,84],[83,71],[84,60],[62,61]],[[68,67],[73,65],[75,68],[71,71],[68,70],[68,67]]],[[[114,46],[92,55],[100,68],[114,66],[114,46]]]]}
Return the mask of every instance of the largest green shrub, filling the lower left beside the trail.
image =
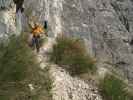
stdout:
{"type": "Polygon", "coordinates": [[[51,81],[48,73],[41,74],[36,57],[26,43],[25,35],[12,36],[7,46],[0,45],[0,100],[39,100],[42,94],[51,100],[51,81]],[[35,87],[31,93],[29,84],[35,87]],[[40,93],[40,94],[39,94],[40,93]]]}

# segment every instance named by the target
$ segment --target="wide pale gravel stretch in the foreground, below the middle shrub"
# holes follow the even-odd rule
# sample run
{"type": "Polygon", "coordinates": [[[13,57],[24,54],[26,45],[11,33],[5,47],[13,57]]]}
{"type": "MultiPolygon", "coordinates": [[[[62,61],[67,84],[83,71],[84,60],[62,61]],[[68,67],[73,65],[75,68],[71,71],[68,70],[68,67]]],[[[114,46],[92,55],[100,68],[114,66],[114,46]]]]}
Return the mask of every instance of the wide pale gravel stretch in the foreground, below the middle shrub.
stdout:
{"type": "Polygon", "coordinates": [[[54,82],[53,100],[102,100],[94,85],[71,77],[56,65],[51,65],[50,75],[54,82]]]}

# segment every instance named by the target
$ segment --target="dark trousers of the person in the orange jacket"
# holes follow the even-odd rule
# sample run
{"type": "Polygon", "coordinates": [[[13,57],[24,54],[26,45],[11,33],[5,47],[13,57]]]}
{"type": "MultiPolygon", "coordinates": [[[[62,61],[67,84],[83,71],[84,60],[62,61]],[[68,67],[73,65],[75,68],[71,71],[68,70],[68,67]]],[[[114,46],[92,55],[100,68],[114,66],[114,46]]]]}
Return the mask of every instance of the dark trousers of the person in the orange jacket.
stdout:
{"type": "Polygon", "coordinates": [[[37,52],[40,49],[40,36],[33,36],[32,38],[32,47],[35,47],[37,52]]]}

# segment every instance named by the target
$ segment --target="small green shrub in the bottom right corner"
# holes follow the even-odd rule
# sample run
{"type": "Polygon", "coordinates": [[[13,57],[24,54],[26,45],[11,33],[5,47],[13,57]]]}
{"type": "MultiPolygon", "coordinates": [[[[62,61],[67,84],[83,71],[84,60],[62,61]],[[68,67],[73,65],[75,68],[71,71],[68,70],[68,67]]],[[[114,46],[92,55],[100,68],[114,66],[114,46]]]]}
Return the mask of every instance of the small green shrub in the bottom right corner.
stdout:
{"type": "Polygon", "coordinates": [[[126,85],[114,75],[107,75],[100,82],[100,92],[104,100],[133,100],[133,97],[126,92],[126,85]]]}

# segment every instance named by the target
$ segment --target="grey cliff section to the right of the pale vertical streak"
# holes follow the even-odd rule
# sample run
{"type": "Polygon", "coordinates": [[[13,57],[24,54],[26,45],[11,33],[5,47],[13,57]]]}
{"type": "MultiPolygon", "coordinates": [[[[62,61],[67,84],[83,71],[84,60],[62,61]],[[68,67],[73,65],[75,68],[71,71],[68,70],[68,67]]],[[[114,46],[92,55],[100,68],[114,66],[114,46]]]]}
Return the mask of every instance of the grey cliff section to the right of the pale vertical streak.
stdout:
{"type": "Polygon", "coordinates": [[[85,39],[90,53],[100,63],[119,67],[132,80],[132,32],[129,10],[124,10],[131,7],[129,3],[128,0],[67,0],[62,26],[64,33],[85,39]]]}

